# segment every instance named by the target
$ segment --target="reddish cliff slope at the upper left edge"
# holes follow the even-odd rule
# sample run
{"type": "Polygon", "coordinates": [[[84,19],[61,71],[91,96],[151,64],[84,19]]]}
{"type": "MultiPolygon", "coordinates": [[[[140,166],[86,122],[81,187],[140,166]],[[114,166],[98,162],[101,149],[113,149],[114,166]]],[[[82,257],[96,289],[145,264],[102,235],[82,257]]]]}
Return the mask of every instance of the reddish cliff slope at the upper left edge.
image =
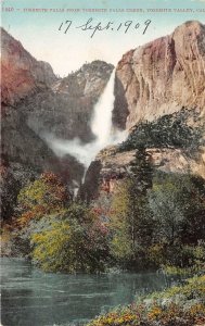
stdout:
{"type": "Polygon", "coordinates": [[[34,91],[48,88],[57,78],[49,63],[37,61],[1,28],[1,101],[14,105],[34,91]]]}

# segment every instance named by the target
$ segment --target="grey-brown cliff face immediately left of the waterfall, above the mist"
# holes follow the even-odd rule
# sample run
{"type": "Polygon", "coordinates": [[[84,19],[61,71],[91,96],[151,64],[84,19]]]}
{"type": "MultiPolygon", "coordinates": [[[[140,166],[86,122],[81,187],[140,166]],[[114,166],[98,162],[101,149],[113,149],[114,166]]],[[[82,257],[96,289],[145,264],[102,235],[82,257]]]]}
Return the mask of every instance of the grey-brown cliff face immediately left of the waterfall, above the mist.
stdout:
{"type": "Polygon", "coordinates": [[[78,137],[89,142],[93,139],[90,129],[93,106],[113,68],[105,62],[93,61],[51,88],[27,98],[21,103],[27,124],[42,138],[50,134],[66,140],[78,137]]]}

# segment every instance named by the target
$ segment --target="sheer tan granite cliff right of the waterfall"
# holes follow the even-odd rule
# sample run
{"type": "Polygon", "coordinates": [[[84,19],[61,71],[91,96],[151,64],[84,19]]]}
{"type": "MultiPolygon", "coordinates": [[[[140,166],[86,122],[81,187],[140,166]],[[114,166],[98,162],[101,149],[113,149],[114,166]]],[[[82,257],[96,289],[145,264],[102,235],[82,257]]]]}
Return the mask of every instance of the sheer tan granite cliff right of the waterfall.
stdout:
{"type": "Polygon", "coordinates": [[[113,122],[131,128],[182,106],[205,113],[205,26],[187,22],[127,52],[116,68],[113,122]],[[123,103],[123,105],[121,105],[123,103]]]}

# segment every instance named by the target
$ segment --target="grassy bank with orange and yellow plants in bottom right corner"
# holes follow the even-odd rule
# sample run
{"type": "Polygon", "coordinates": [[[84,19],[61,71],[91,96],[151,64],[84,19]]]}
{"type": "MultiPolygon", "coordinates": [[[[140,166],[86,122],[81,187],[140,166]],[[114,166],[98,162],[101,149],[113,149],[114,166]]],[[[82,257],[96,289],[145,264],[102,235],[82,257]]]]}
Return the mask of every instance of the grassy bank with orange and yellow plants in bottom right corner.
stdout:
{"type": "Polygon", "coordinates": [[[184,285],[141,298],[90,322],[88,326],[195,326],[205,325],[205,275],[184,285]]]}

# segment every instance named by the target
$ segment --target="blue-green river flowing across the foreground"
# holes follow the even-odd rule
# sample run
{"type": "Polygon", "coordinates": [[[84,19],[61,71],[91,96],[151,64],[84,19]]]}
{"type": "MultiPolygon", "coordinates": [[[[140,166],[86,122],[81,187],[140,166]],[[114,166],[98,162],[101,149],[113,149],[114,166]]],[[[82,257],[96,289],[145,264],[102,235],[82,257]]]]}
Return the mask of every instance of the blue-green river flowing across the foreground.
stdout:
{"type": "Polygon", "coordinates": [[[46,274],[23,259],[3,258],[2,325],[64,326],[86,323],[113,306],[131,303],[140,293],[161,290],[166,286],[163,274],[46,274]]]}

